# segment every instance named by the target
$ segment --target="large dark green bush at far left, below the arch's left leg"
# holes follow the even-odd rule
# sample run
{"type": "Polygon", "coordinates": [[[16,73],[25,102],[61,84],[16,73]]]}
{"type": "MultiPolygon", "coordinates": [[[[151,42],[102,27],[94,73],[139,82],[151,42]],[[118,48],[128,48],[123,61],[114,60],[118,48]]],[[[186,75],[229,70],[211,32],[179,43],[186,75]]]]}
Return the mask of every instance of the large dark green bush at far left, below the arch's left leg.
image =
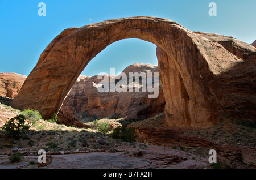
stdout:
{"type": "Polygon", "coordinates": [[[5,131],[6,135],[18,138],[21,132],[30,129],[30,124],[25,124],[25,122],[26,117],[23,114],[19,114],[3,125],[2,129],[5,131]]]}

